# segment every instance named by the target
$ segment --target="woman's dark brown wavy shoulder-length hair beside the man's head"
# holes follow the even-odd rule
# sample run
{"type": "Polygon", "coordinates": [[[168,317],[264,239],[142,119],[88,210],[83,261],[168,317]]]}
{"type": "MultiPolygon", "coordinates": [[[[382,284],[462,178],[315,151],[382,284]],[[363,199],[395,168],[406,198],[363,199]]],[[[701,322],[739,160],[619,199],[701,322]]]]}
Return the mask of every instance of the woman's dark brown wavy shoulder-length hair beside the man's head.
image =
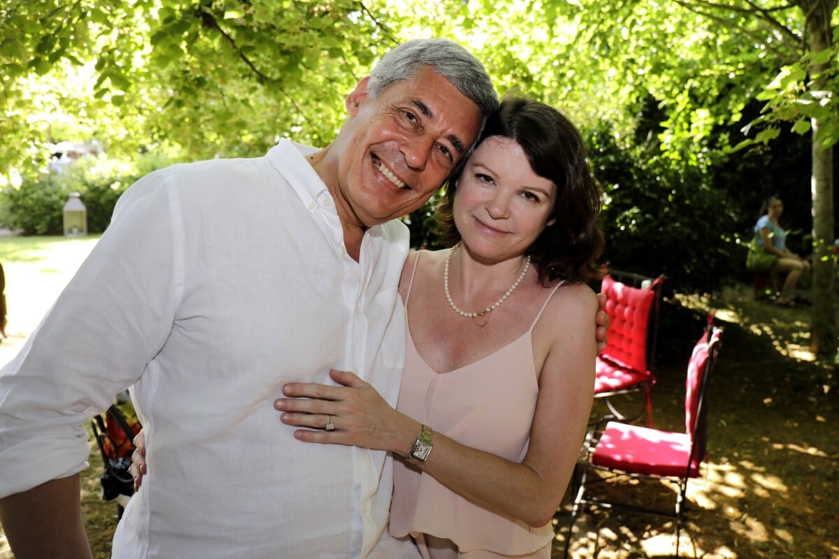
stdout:
{"type": "MultiPolygon", "coordinates": [[[[588,282],[603,277],[597,263],[605,241],[600,227],[603,193],[591,173],[580,132],[555,108],[520,97],[505,98],[487,120],[480,141],[505,137],[524,149],[533,172],[556,185],[549,220],[528,254],[548,285],[556,279],[588,282]]],[[[446,193],[436,208],[436,230],[441,240],[460,241],[453,215],[457,182],[463,166],[446,181],[446,193]]]]}

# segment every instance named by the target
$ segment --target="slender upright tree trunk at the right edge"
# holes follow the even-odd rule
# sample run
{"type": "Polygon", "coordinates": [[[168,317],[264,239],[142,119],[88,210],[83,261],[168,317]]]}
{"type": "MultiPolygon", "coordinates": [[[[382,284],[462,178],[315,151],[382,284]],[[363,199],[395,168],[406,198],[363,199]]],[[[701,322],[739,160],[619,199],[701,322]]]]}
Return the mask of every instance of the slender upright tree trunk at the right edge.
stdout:
{"type": "MultiPolygon", "coordinates": [[[[820,4],[816,2],[816,4],[820,4]]],[[[822,8],[827,4],[821,3],[822,8]]],[[[810,53],[831,48],[832,9],[811,9],[807,15],[807,43],[810,53]]],[[[816,96],[826,89],[823,71],[825,65],[810,66],[812,87],[816,96]]],[[[813,130],[813,174],[810,185],[813,197],[813,318],[810,325],[810,351],[816,355],[833,355],[836,352],[836,269],[832,251],[833,223],[833,150],[822,148],[819,129],[821,122],[811,121],[813,130]]]]}

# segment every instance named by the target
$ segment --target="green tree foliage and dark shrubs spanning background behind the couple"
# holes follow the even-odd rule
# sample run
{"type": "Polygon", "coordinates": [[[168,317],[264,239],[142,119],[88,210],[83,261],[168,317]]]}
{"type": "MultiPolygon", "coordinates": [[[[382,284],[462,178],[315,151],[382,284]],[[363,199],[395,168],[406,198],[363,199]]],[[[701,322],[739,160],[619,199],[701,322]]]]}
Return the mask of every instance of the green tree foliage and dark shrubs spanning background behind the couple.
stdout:
{"type": "MultiPolygon", "coordinates": [[[[380,54],[443,36],[477,54],[498,91],[557,106],[587,131],[608,195],[611,261],[666,270],[681,288],[713,288],[742,268],[741,236],[776,190],[772,165],[794,146],[779,148],[789,131],[817,131],[810,168],[820,194],[817,219],[804,223],[807,211],[790,206],[810,197],[810,178],[787,175],[787,215],[796,230],[812,227],[817,250],[832,244],[834,204],[825,210],[823,193],[833,179],[816,153],[839,137],[835,8],[836,0],[5,0],[0,177],[34,176],[50,142],[64,139],[96,137],[112,156],[142,148],[187,159],[259,155],[280,135],[324,145],[380,54]]],[[[428,208],[410,216],[418,246],[433,246],[429,216],[428,208]]],[[[814,308],[830,313],[833,304],[814,308]]]]}

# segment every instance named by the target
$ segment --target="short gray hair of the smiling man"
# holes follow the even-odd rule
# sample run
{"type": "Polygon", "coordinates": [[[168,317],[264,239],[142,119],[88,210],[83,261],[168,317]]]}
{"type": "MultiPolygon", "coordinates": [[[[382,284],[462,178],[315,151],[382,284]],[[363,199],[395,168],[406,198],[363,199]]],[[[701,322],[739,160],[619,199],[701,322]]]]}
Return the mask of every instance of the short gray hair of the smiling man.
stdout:
{"type": "Polygon", "coordinates": [[[468,50],[448,39],[411,39],[390,50],[370,72],[367,95],[376,99],[396,82],[413,78],[423,65],[429,65],[474,101],[483,122],[498,109],[498,93],[487,70],[468,50]]]}

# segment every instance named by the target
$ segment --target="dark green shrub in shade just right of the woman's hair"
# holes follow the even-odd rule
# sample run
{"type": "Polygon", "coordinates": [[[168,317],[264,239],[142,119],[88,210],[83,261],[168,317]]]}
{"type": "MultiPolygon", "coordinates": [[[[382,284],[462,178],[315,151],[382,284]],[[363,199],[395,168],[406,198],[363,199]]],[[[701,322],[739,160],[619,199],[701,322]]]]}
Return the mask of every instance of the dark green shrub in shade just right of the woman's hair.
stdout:
{"type": "Polygon", "coordinates": [[[657,142],[618,140],[604,124],[586,132],[603,185],[603,230],[610,266],[670,277],[666,286],[711,292],[743,267],[734,235],[737,208],[700,168],[660,157],[657,142]]]}

